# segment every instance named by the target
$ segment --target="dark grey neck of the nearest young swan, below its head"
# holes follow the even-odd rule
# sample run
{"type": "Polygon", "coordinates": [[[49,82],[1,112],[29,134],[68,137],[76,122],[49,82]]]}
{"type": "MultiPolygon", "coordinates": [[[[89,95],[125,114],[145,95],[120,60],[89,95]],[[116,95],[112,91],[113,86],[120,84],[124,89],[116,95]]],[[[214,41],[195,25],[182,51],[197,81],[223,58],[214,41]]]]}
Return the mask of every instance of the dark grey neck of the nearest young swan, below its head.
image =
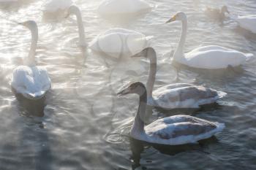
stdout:
{"type": "Polygon", "coordinates": [[[145,116],[146,104],[147,104],[147,95],[146,93],[143,93],[143,95],[140,96],[140,105],[135,117],[135,122],[132,125],[132,129],[131,129],[132,136],[138,136],[139,138],[141,134],[145,133],[144,121],[141,119],[141,117],[145,116]]]}

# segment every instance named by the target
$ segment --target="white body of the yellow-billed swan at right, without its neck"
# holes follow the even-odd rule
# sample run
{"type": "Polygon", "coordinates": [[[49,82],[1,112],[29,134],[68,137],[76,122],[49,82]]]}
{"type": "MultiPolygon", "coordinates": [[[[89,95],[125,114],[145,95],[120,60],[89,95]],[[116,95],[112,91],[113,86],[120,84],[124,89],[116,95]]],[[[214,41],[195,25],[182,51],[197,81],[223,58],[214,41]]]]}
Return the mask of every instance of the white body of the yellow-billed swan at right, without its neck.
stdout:
{"type": "Polygon", "coordinates": [[[225,47],[206,46],[186,53],[184,64],[200,69],[226,69],[228,66],[240,66],[251,55],[225,47]]]}

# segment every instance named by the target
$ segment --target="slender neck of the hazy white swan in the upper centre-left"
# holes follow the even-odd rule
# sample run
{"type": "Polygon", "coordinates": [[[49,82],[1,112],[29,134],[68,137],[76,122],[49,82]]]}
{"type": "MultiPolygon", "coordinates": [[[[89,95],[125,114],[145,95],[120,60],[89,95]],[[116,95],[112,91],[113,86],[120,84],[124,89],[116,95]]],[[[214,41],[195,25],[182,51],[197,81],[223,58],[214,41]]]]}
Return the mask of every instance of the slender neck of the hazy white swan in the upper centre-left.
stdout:
{"type": "Polygon", "coordinates": [[[86,42],[85,42],[86,37],[84,35],[83,20],[82,20],[80,9],[78,7],[75,7],[75,11],[73,13],[78,20],[78,34],[79,34],[80,46],[86,46],[86,42]]]}

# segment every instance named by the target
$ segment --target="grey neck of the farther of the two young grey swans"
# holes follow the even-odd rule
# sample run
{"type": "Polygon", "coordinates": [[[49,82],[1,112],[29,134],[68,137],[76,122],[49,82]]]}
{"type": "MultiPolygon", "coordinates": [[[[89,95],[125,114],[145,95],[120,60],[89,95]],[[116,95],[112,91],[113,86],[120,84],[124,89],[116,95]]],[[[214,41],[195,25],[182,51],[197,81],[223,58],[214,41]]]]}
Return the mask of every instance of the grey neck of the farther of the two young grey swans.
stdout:
{"type": "Polygon", "coordinates": [[[148,58],[150,61],[150,68],[149,68],[149,75],[148,75],[146,88],[147,88],[147,95],[150,98],[152,97],[154,82],[156,80],[156,74],[157,74],[157,54],[155,52],[150,53],[148,54],[148,58]]]}

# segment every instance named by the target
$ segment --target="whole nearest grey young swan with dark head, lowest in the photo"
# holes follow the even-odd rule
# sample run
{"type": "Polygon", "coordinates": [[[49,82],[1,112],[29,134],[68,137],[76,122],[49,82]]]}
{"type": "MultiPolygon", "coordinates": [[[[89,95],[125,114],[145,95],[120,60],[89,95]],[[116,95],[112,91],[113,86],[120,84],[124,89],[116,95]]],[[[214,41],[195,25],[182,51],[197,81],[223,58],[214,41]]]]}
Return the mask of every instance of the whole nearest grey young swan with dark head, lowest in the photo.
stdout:
{"type": "Polygon", "coordinates": [[[130,135],[132,138],[156,144],[188,144],[207,139],[225,128],[224,123],[210,122],[188,115],[175,115],[158,119],[144,125],[146,114],[147,92],[141,82],[132,83],[128,88],[118,93],[123,96],[129,93],[140,96],[140,104],[130,135]]]}

